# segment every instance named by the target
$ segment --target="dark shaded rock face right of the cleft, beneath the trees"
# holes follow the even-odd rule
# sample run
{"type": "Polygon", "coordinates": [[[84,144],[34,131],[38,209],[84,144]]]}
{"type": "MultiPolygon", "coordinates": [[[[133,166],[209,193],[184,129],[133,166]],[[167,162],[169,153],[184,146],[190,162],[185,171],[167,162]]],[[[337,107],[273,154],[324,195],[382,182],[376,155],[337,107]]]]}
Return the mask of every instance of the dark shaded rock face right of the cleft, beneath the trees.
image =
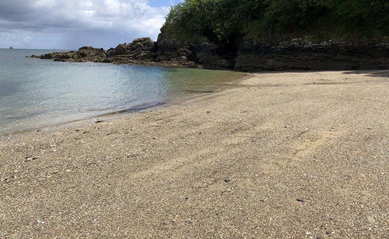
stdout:
{"type": "Polygon", "coordinates": [[[273,45],[244,41],[237,55],[235,69],[247,72],[389,69],[389,44],[382,41],[312,43],[294,39],[273,45]]]}

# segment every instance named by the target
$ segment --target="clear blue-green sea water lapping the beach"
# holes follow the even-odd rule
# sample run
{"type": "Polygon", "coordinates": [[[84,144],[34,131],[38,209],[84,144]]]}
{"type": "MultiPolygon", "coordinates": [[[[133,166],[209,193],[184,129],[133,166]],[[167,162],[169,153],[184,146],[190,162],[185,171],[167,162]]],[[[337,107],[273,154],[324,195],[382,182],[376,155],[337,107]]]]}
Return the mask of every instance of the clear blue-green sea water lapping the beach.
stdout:
{"type": "Polygon", "coordinates": [[[210,91],[244,73],[26,58],[0,49],[0,134],[51,126],[210,91]]]}

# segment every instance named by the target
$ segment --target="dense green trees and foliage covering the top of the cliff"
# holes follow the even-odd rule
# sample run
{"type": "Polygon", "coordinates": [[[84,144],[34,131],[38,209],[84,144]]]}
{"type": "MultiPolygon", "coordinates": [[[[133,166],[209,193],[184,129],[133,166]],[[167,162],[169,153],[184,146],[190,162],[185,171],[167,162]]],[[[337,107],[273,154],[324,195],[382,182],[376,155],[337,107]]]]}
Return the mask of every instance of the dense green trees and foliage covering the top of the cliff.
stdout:
{"type": "Polygon", "coordinates": [[[186,0],[171,7],[162,30],[177,28],[224,46],[244,37],[382,37],[389,1],[186,0]]]}

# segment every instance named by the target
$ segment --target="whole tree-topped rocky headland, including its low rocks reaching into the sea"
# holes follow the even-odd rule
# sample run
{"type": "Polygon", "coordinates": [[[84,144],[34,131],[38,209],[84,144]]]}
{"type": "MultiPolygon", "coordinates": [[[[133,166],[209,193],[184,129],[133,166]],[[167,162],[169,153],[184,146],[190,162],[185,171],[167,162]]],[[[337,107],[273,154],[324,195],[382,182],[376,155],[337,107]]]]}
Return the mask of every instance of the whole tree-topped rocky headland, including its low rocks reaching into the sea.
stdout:
{"type": "Polygon", "coordinates": [[[382,0],[187,0],[171,7],[156,42],[30,57],[246,72],[389,69],[388,11],[382,0]]]}

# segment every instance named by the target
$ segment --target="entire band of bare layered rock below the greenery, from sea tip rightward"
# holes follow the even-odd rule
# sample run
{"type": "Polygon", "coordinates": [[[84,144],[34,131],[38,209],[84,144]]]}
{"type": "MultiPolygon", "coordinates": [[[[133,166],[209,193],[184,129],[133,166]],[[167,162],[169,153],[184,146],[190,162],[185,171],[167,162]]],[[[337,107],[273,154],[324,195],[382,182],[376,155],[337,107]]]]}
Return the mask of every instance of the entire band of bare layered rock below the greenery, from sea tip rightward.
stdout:
{"type": "Polygon", "coordinates": [[[385,40],[351,42],[302,39],[275,44],[245,40],[235,52],[224,52],[209,42],[137,38],[108,51],[81,47],[78,51],[54,52],[32,58],[54,61],[103,62],[131,65],[180,66],[234,69],[245,72],[285,70],[379,70],[389,69],[389,44],[385,40]]]}

